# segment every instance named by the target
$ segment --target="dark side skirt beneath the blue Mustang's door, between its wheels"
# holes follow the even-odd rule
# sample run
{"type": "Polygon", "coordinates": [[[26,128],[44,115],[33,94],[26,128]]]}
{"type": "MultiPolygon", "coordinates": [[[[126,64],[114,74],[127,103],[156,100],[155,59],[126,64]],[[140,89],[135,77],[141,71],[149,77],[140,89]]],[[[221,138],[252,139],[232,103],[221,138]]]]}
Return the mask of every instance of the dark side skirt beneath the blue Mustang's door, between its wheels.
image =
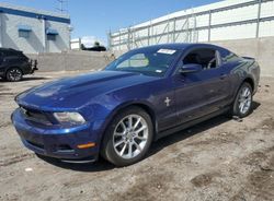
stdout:
{"type": "Polygon", "coordinates": [[[159,133],[156,134],[155,141],[157,141],[157,140],[163,138],[163,137],[167,137],[167,135],[169,135],[169,134],[175,133],[175,132],[178,132],[178,131],[180,131],[180,130],[190,128],[190,127],[192,127],[192,126],[194,126],[194,125],[197,125],[197,123],[199,123],[199,122],[203,122],[203,121],[205,121],[205,120],[212,119],[213,117],[216,117],[216,116],[219,116],[219,115],[221,115],[221,114],[225,114],[225,113],[228,111],[228,110],[229,110],[229,107],[225,107],[225,108],[221,108],[221,109],[219,109],[219,110],[217,110],[217,111],[215,111],[215,113],[212,113],[212,114],[209,114],[209,115],[206,115],[206,116],[204,116],[204,117],[201,117],[201,118],[191,120],[191,121],[189,121],[189,122],[185,122],[185,123],[183,123],[183,125],[180,125],[180,126],[178,126],[178,127],[174,127],[174,128],[171,128],[171,129],[161,131],[161,132],[159,132],[159,133]]]}

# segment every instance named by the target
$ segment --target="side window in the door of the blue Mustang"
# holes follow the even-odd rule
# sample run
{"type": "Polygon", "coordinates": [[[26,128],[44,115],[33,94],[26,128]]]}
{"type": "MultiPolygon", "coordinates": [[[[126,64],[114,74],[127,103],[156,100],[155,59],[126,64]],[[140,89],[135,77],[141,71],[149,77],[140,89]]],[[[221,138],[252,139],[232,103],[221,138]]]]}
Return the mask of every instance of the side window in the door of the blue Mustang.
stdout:
{"type": "Polygon", "coordinates": [[[187,54],[183,59],[184,64],[197,63],[204,70],[215,69],[219,67],[219,51],[210,48],[198,48],[187,54]]]}

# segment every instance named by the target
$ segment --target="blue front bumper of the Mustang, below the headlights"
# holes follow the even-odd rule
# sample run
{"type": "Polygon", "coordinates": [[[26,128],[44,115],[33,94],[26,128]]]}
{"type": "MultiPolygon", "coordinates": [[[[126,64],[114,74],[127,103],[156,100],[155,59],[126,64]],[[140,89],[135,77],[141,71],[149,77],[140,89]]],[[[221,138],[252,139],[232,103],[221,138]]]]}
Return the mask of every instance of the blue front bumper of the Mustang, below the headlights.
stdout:
{"type": "Polygon", "coordinates": [[[71,161],[95,161],[99,155],[99,134],[87,123],[73,128],[42,126],[25,119],[20,109],[12,114],[12,122],[23,142],[33,152],[71,161]],[[79,149],[79,144],[95,143],[95,146],[79,149]]]}

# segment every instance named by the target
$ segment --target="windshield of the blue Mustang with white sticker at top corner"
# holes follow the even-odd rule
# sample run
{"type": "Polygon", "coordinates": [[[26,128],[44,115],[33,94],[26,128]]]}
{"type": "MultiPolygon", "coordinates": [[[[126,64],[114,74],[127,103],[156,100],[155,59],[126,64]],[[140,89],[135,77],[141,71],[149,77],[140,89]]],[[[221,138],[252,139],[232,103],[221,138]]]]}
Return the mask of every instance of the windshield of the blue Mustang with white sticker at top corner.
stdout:
{"type": "Polygon", "coordinates": [[[138,72],[151,76],[163,76],[179,50],[164,48],[142,48],[128,51],[109,64],[105,70],[138,72]]]}

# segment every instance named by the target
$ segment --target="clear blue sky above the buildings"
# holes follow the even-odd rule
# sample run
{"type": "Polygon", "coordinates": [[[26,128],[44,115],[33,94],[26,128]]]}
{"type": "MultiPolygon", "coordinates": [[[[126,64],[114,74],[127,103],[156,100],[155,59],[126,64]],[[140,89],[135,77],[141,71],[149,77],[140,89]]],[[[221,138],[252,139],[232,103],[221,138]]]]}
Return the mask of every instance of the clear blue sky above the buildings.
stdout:
{"type": "MultiPolygon", "coordinates": [[[[71,19],[71,38],[88,36],[107,44],[106,33],[175,11],[219,0],[64,0],[71,19]]],[[[58,0],[0,0],[10,4],[58,11],[58,0]]]]}

